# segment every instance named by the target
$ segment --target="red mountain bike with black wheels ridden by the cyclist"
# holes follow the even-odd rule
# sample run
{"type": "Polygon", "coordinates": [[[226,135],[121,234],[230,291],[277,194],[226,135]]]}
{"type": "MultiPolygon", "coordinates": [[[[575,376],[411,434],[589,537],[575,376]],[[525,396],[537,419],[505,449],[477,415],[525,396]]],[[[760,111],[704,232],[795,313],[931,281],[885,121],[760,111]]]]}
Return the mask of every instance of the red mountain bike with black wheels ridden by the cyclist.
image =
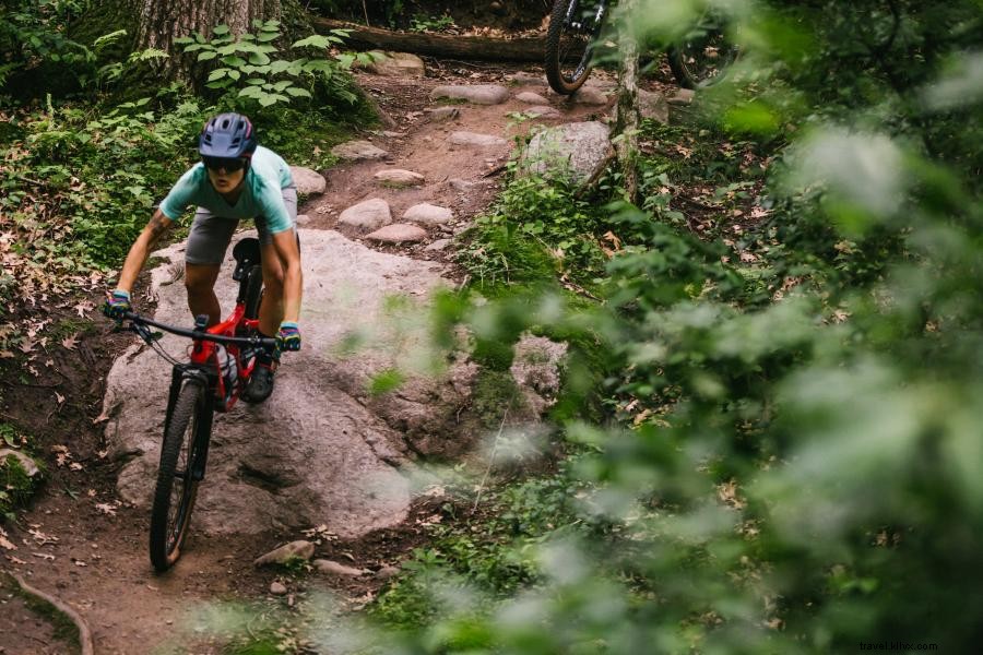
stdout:
{"type": "Polygon", "coordinates": [[[200,315],[194,329],[186,330],[132,312],[125,317],[129,330],[174,365],[151,512],[150,556],[157,572],[169,569],[181,556],[198,485],[204,479],[213,413],[233,408],[249,383],[256,354],[276,347],[276,340],[258,336],[263,295],[259,240],[242,239],[233,257],[233,279],[239,283],[239,295],[232,315],[222,323],[206,329],[208,317],[200,315]],[[166,353],[157,343],[163,334],[151,327],[193,340],[191,360],[178,361],[166,353]]]}

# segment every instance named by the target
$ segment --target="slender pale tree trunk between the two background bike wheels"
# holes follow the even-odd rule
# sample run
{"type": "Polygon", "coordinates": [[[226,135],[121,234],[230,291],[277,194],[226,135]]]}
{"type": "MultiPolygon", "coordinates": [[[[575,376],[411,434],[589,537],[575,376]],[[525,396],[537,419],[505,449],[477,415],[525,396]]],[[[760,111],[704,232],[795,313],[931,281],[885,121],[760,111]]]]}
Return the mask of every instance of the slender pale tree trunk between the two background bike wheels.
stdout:
{"type": "Polygon", "coordinates": [[[638,128],[641,116],[638,109],[638,35],[632,28],[631,16],[638,11],[638,0],[621,0],[618,45],[621,61],[618,70],[618,119],[615,132],[618,160],[625,181],[625,195],[638,204],[638,128]]]}

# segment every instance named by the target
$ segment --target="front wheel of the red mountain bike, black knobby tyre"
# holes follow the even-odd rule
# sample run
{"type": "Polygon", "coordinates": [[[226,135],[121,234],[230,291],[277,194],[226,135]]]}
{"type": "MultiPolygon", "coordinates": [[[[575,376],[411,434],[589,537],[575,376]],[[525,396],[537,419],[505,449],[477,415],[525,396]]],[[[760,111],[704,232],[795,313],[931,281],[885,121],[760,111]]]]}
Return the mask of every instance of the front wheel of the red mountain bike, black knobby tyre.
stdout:
{"type": "Polygon", "coordinates": [[[205,388],[198,380],[187,380],[166,421],[161,467],[151,512],[151,563],[159,573],[169,569],[181,556],[181,545],[191,522],[191,510],[198,493],[196,464],[209,430],[205,388]]]}

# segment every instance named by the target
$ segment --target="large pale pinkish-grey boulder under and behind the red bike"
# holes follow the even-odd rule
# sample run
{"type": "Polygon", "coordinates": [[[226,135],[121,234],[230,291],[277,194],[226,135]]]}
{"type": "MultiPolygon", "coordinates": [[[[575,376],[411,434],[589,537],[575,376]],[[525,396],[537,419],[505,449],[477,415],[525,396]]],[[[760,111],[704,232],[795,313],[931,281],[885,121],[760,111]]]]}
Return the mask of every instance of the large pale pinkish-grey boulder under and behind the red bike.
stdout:
{"type": "MultiPolygon", "coordinates": [[[[300,243],[304,347],[284,355],[265,403],[239,403],[215,416],[196,531],[256,534],[324,524],[356,537],[399,524],[410,507],[411,461],[458,456],[483,433],[485,425],[471,414],[478,367],[458,357],[434,377],[419,365],[434,361],[426,298],[450,285],[440,265],[376,252],[330,230],[301,229],[300,243]],[[393,370],[403,384],[374,393],[374,380],[393,370]]],[[[183,248],[155,253],[165,263],[152,272],[151,293],[157,321],[187,326],[183,248]]],[[[229,257],[216,285],[225,312],[236,294],[230,271],[229,257]]],[[[165,334],[159,344],[182,357],[188,340],[165,334]]],[[[548,378],[514,374],[540,385],[548,378]]],[[[107,379],[106,439],[121,466],[118,491],[143,508],[153,492],[169,380],[169,365],[142,342],[116,360],[107,379]]]]}

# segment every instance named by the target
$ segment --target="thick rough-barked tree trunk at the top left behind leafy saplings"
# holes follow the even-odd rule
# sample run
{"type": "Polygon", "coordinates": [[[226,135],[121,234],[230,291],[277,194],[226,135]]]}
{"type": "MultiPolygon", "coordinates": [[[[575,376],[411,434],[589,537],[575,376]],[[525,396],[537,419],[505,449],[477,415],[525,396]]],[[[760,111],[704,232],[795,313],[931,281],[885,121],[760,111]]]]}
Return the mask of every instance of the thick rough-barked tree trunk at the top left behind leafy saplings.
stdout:
{"type": "Polygon", "coordinates": [[[170,55],[170,69],[187,73],[181,49],[174,39],[193,32],[211,36],[216,25],[228,25],[233,34],[252,32],[253,19],[280,19],[281,0],[130,0],[137,16],[137,49],[156,48],[170,55]]]}

